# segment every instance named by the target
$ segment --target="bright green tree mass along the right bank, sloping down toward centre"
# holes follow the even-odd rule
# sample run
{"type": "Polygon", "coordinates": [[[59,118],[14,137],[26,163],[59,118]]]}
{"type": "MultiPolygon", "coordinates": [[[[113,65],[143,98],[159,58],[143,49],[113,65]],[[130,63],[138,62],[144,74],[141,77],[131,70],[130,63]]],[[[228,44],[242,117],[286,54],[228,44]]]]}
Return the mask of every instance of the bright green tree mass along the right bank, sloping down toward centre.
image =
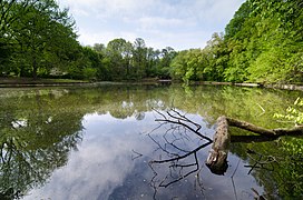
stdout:
{"type": "Polygon", "coordinates": [[[303,81],[303,1],[247,0],[203,50],[182,52],[173,77],[232,82],[303,81]],[[199,52],[198,52],[199,51],[199,52]]]}

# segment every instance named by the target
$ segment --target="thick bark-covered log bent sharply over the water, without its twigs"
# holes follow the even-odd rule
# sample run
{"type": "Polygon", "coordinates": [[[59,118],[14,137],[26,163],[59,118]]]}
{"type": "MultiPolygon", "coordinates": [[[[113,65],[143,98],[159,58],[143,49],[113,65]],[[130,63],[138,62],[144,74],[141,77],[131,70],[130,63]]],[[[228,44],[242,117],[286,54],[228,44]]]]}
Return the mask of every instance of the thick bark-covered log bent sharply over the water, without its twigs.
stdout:
{"type": "Polygon", "coordinates": [[[224,174],[228,167],[227,154],[231,143],[228,126],[258,133],[267,137],[268,139],[275,139],[281,136],[303,136],[303,127],[294,127],[292,129],[265,129],[246,121],[240,121],[222,116],[217,119],[217,129],[214,136],[214,143],[206,160],[206,166],[213,173],[216,174],[224,174]]]}

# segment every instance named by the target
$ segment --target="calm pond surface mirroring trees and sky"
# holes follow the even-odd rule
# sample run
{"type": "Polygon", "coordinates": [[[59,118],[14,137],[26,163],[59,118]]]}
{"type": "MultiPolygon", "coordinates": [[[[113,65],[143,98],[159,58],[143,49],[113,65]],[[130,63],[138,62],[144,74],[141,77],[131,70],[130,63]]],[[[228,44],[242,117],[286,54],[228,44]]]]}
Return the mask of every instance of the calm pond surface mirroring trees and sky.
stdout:
{"type": "Polygon", "coordinates": [[[233,141],[218,176],[205,166],[212,144],[163,121],[187,119],[211,139],[223,114],[292,127],[273,114],[297,97],[231,86],[0,89],[0,199],[300,199],[302,138],[233,141]]]}

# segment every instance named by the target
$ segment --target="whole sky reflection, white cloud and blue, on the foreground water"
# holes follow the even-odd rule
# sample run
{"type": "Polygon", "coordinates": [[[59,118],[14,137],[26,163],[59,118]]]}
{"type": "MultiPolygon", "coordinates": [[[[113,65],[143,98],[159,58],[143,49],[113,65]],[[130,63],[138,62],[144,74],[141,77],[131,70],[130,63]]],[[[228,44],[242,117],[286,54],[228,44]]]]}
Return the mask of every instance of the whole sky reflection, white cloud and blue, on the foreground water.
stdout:
{"type": "MultiPolygon", "coordinates": [[[[163,133],[167,127],[155,130],[155,117],[157,117],[155,114],[145,112],[143,121],[137,121],[135,117],[119,120],[110,117],[109,113],[85,116],[82,123],[86,134],[79,150],[70,153],[67,166],[56,170],[43,188],[30,191],[31,196],[25,199],[153,199],[154,191],[149,181],[155,174],[146,162],[149,159],[164,158],[165,153],[159,151],[158,146],[145,137],[146,134],[138,133],[154,130],[153,136],[158,136],[157,141],[165,144],[163,133]],[[162,140],[158,140],[159,138],[162,140]],[[131,160],[131,154],[134,156],[131,150],[144,154],[136,160],[138,162],[131,160]]],[[[194,121],[201,121],[204,133],[214,131],[213,128],[206,128],[201,117],[195,114],[187,114],[187,117],[194,121]]],[[[187,141],[203,142],[188,139],[187,136],[187,141]]],[[[180,142],[183,143],[182,140],[180,142]]],[[[248,199],[245,196],[252,186],[263,191],[254,183],[253,177],[247,177],[248,169],[236,167],[237,157],[228,156],[229,168],[226,176],[223,177],[212,174],[203,166],[207,154],[207,149],[201,150],[197,154],[202,167],[199,176],[203,192],[196,186],[197,177],[192,174],[169,188],[157,187],[157,199],[172,199],[173,197],[178,197],[178,199],[235,199],[231,179],[234,173],[238,199],[248,199]]],[[[190,163],[193,157],[187,159],[190,163]]],[[[170,174],[168,173],[172,169],[169,166],[172,166],[170,162],[158,164],[159,168],[155,166],[154,169],[160,177],[159,181],[170,174]]]]}

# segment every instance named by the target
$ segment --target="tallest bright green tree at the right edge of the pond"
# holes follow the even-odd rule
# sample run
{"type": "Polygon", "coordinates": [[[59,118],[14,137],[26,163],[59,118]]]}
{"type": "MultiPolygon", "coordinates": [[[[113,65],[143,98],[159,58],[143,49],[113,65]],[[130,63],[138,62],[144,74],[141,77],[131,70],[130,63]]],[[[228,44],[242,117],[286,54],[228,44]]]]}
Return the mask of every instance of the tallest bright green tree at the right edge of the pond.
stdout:
{"type": "Polygon", "coordinates": [[[225,28],[228,50],[225,80],[301,81],[302,6],[295,0],[244,2],[225,28]]]}

